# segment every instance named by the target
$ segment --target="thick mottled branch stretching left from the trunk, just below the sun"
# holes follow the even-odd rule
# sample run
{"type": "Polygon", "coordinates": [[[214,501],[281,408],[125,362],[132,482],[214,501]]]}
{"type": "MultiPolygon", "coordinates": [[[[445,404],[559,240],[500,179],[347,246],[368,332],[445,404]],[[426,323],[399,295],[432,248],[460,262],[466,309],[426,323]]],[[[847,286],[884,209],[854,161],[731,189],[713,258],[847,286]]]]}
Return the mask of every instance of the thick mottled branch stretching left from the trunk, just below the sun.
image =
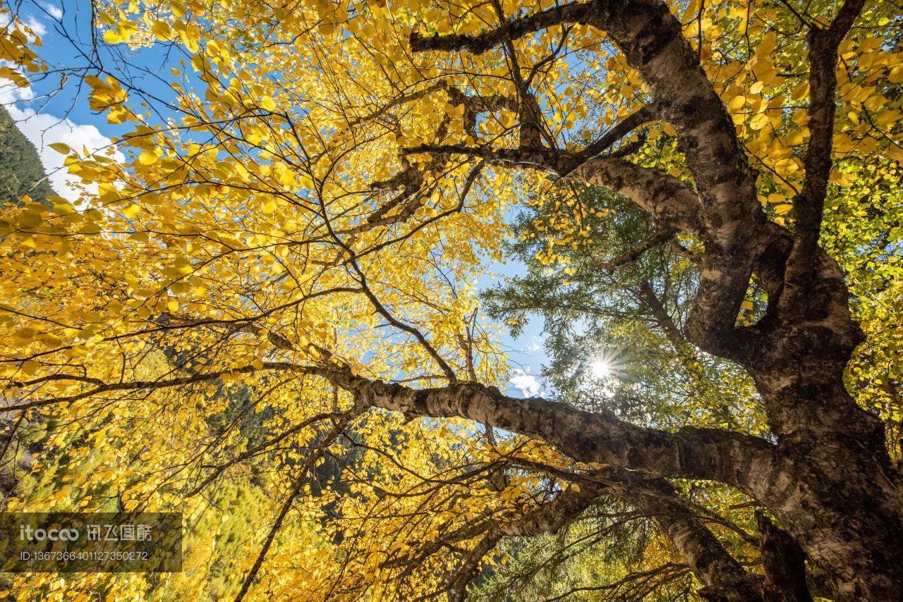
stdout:
{"type": "Polygon", "coordinates": [[[416,390],[338,368],[327,377],[363,403],[407,416],[467,418],[545,440],[582,462],[712,479],[746,491],[759,478],[754,465],[768,465],[772,449],[768,441],[736,432],[684,427],[671,433],[638,427],[610,412],[585,412],[536,397],[517,399],[480,384],[416,390]]]}

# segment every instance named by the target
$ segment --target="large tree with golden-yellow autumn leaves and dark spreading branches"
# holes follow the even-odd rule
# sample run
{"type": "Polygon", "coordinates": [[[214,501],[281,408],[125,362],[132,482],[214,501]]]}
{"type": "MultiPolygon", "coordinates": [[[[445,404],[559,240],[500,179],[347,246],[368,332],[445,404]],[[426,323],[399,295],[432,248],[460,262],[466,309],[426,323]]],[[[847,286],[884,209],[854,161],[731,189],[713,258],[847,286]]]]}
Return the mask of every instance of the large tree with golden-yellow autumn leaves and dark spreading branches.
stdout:
{"type": "MultiPolygon", "coordinates": [[[[12,23],[2,58],[40,71],[12,23]]],[[[274,449],[282,501],[238,597],[461,599],[505,538],[621,506],[672,554],[634,578],[685,567],[719,600],[898,595],[899,334],[880,325],[903,248],[894,5],[109,2],[97,23],[104,43],[50,72],[83,79],[128,159],[67,149],[97,195],[5,210],[7,410],[122,419],[96,439],[133,454],[128,509],[274,449]],[[163,89],[126,52],[158,44],[163,89]],[[683,425],[659,412],[675,387],[626,418],[602,393],[587,410],[494,386],[472,282],[528,196],[552,202],[535,260],[559,276],[572,252],[624,247],[600,269],[641,297],[646,347],[684,366],[683,425]],[[175,365],[144,365],[174,345],[175,365]],[[200,418],[238,384],[247,411],[279,411],[234,455],[244,435],[200,418]],[[362,451],[346,485],[312,495],[340,445],[362,451]],[[331,555],[280,549],[286,519],[327,505],[331,555]]],[[[626,311],[612,291],[589,299],[626,311]]]]}

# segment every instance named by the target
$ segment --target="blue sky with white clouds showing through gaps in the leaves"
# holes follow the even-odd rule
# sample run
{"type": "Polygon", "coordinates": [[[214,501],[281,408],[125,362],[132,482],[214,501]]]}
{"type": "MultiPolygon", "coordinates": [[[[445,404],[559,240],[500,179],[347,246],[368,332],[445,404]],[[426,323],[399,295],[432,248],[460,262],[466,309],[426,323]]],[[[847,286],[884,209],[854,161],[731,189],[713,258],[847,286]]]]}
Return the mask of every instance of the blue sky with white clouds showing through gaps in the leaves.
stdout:
{"type": "MultiPolygon", "coordinates": [[[[87,0],[48,0],[25,3],[19,16],[42,39],[39,54],[51,66],[51,74],[32,78],[31,88],[15,88],[0,80],[0,104],[13,116],[23,133],[38,149],[42,163],[53,187],[61,196],[76,199],[79,195],[72,187],[78,179],[70,177],[63,168],[63,155],[50,148],[50,144],[64,143],[70,148],[87,148],[96,152],[107,148],[111,137],[124,133],[123,125],[107,123],[104,115],[97,115],[88,107],[87,90],[79,87],[79,78],[72,77],[61,85],[59,76],[52,73],[55,66],[70,67],[87,64],[91,50],[90,5],[87,0]]],[[[0,22],[0,26],[6,23],[0,22]]],[[[122,46],[117,51],[130,52],[122,46]]],[[[121,56],[101,55],[100,60],[122,59],[121,56]]],[[[154,86],[154,68],[163,66],[163,57],[153,48],[132,53],[126,57],[139,68],[150,68],[145,79],[154,86]]],[[[168,65],[166,71],[168,73],[168,65]]],[[[162,80],[161,80],[162,81],[162,80]]],[[[157,84],[158,88],[165,89],[157,84]]],[[[118,160],[124,157],[118,154],[118,160]]],[[[489,264],[488,271],[479,279],[484,290],[505,276],[526,272],[526,267],[513,260],[489,264]]],[[[505,332],[501,344],[510,364],[510,380],[507,394],[545,394],[539,372],[546,360],[543,349],[543,323],[538,317],[531,320],[520,336],[512,338],[505,332]]]]}

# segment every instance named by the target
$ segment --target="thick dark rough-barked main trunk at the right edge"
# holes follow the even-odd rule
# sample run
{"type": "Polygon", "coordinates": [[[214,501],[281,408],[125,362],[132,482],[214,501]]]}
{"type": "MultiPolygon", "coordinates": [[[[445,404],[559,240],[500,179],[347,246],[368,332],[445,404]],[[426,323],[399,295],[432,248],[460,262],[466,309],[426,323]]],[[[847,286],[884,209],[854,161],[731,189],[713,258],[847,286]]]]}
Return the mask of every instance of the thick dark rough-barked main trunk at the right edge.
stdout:
{"type": "MultiPolygon", "coordinates": [[[[787,255],[780,265],[790,264],[787,255]]],[[[781,274],[775,317],[752,339],[755,352],[740,358],[777,435],[772,472],[756,495],[833,580],[838,599],[898,599],[903,484],[883,424],[842,381],[861,341],[842,272],[821,250],[810,263],[804,283],[781,274]]]]}

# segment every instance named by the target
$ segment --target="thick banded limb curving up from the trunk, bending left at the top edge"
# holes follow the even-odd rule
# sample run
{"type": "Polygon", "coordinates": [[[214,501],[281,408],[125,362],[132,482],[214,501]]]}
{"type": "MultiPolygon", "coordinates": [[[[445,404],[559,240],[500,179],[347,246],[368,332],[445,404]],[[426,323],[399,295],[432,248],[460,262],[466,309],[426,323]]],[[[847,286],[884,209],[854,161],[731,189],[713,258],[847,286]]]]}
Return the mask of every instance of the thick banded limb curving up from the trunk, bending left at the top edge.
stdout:
{"type": "Polygon", "coordinates": [[[566,5],[475,36],[424,39],[413,35],[411,42],[414,50],[480,52],[561,23],[588,23],[608,32],[628,65],[646,79],[658,114],[675,126],[699,191],[700,234],[706,247],[688,332],[708,351],[729,350],[765,219],[756,199],[755,173],[749,169],[731,118],[697,53],[684,39],[681,23],[664,2],[598,0],[566,5]]]}

